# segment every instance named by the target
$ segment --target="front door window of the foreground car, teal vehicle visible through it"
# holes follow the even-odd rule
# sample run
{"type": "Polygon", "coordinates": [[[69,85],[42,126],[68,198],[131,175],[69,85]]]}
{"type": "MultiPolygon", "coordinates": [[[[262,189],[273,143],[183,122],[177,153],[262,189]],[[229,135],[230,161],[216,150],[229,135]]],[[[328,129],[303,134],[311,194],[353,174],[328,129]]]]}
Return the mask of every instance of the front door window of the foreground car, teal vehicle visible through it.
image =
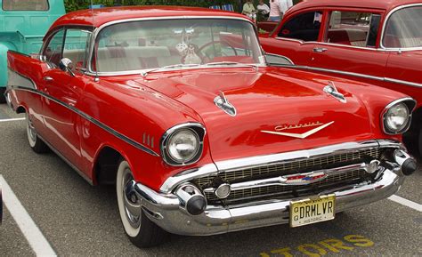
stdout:
{"type": "Polygon", "coordinates": [[[91,32],[70,28],[66,30],[63,58],[69,58],[77,69],[86,67],[88,44],[91,32]]]}

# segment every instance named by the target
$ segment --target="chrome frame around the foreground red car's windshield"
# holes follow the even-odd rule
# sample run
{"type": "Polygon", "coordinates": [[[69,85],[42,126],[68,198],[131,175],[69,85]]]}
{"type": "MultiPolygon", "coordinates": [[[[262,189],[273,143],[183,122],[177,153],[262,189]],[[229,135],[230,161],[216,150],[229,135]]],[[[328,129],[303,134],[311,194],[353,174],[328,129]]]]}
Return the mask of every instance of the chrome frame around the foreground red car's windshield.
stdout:
{"type": "MultiPolygon", "coordinates": [[[[256,25],[251,21],[248,20],[247,18],[242,18],[242,17],[227,17],[227,16],[161,16],[161,17],[149,17],[149,18],[132,18],[132,19],[124,19],[124,20],[112,20],[110,22],[104,23],[102,24],[100,27],[95,28],[93,30],[93,41],[90,45],[90,53],[89,53],[89,62],[88,62],[88,68],[87,68],[87,72],[85,73],[86,75],[89,76],[125,76],[125,75],[137,75],[137,74],[142,74],[142,72],[148,72],[149,68],[147,69],[138,69],[138,70],[128,70],[128,71],[117,71],[117,72],[96,72],[93,71],[92,66],[93,66],[93,53],[94,53],[94,45],[95,45],[95,41],[97,39],[98,34],[100,34],[101,30],[103,28],[107,28],[111,25],[116,25],[119,23],[125,23],[125,22],[133,22],[133,21],[145,21],[145,20],[179,20],[179,19],[190,19],[190,20],[204,20],[204,19],[215,19],[215,20],[242,20],[242,21],[246,21],[249,24],[253,25],[254,28],[256,27],[256,25]]],[[[256,32],[256,29],[255,33],[256,32]]],[[[256,38],[257,38],[257,43],[260,44],[259,42],[259,38],[258,35],[256,34],[256,38]]],[[[261,49],[261,54],[264,56],[264,52],[261,49]]],[[[256,64],[257,67],[266,67],[265,64],[256,64]]],[[[222,66],[224,68],[227,68],[227,66],[222,66]]],[[[209,68],[209,67],[197,67],[197,68],[174,68],[171,69],[171,71],[176,71],[176,70],[183,70],[183,69],[199,69],[199,68],[209,68]]],[[[215,66],[213,68],[221,68],[219,66],[215,66]]],[[[170,71],[170,70],[169,70],[170,71]]]]}

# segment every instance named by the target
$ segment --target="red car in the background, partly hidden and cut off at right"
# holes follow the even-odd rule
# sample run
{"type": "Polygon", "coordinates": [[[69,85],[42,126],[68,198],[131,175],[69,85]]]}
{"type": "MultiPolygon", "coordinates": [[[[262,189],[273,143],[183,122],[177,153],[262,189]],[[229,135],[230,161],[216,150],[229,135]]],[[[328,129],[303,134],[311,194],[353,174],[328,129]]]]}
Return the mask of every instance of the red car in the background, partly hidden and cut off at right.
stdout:
{"type": "Polygon", "coordinates": [[[296,68],[352,78],[406,93],[418,101],[406,134],[422,155],[422,2],[312,0],[292,7],[264,51],[296,68]]]}

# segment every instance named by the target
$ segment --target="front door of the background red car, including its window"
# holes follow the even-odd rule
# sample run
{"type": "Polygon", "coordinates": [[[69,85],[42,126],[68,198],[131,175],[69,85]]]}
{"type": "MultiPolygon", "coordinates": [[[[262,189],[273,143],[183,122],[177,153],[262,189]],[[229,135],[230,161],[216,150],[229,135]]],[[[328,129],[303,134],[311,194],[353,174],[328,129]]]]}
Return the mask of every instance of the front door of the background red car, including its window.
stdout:
{"type": "Polygon", "coordinates": [[[333,10],[327,16],[324,36],[312,49],[308,65],[384,77],[389,53],[377,49],[381,14],[333,10]]]}

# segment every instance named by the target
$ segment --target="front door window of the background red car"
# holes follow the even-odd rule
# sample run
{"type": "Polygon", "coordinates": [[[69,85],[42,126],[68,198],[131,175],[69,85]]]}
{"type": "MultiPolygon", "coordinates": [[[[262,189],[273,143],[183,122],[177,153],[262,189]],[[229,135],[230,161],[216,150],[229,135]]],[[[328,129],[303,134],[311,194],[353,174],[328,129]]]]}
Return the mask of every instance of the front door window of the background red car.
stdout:
{"type": "Polygon", "coordinates": [[[326,42],[374,47],[380,15],[369,12],[331,12],[326,42]]]}

